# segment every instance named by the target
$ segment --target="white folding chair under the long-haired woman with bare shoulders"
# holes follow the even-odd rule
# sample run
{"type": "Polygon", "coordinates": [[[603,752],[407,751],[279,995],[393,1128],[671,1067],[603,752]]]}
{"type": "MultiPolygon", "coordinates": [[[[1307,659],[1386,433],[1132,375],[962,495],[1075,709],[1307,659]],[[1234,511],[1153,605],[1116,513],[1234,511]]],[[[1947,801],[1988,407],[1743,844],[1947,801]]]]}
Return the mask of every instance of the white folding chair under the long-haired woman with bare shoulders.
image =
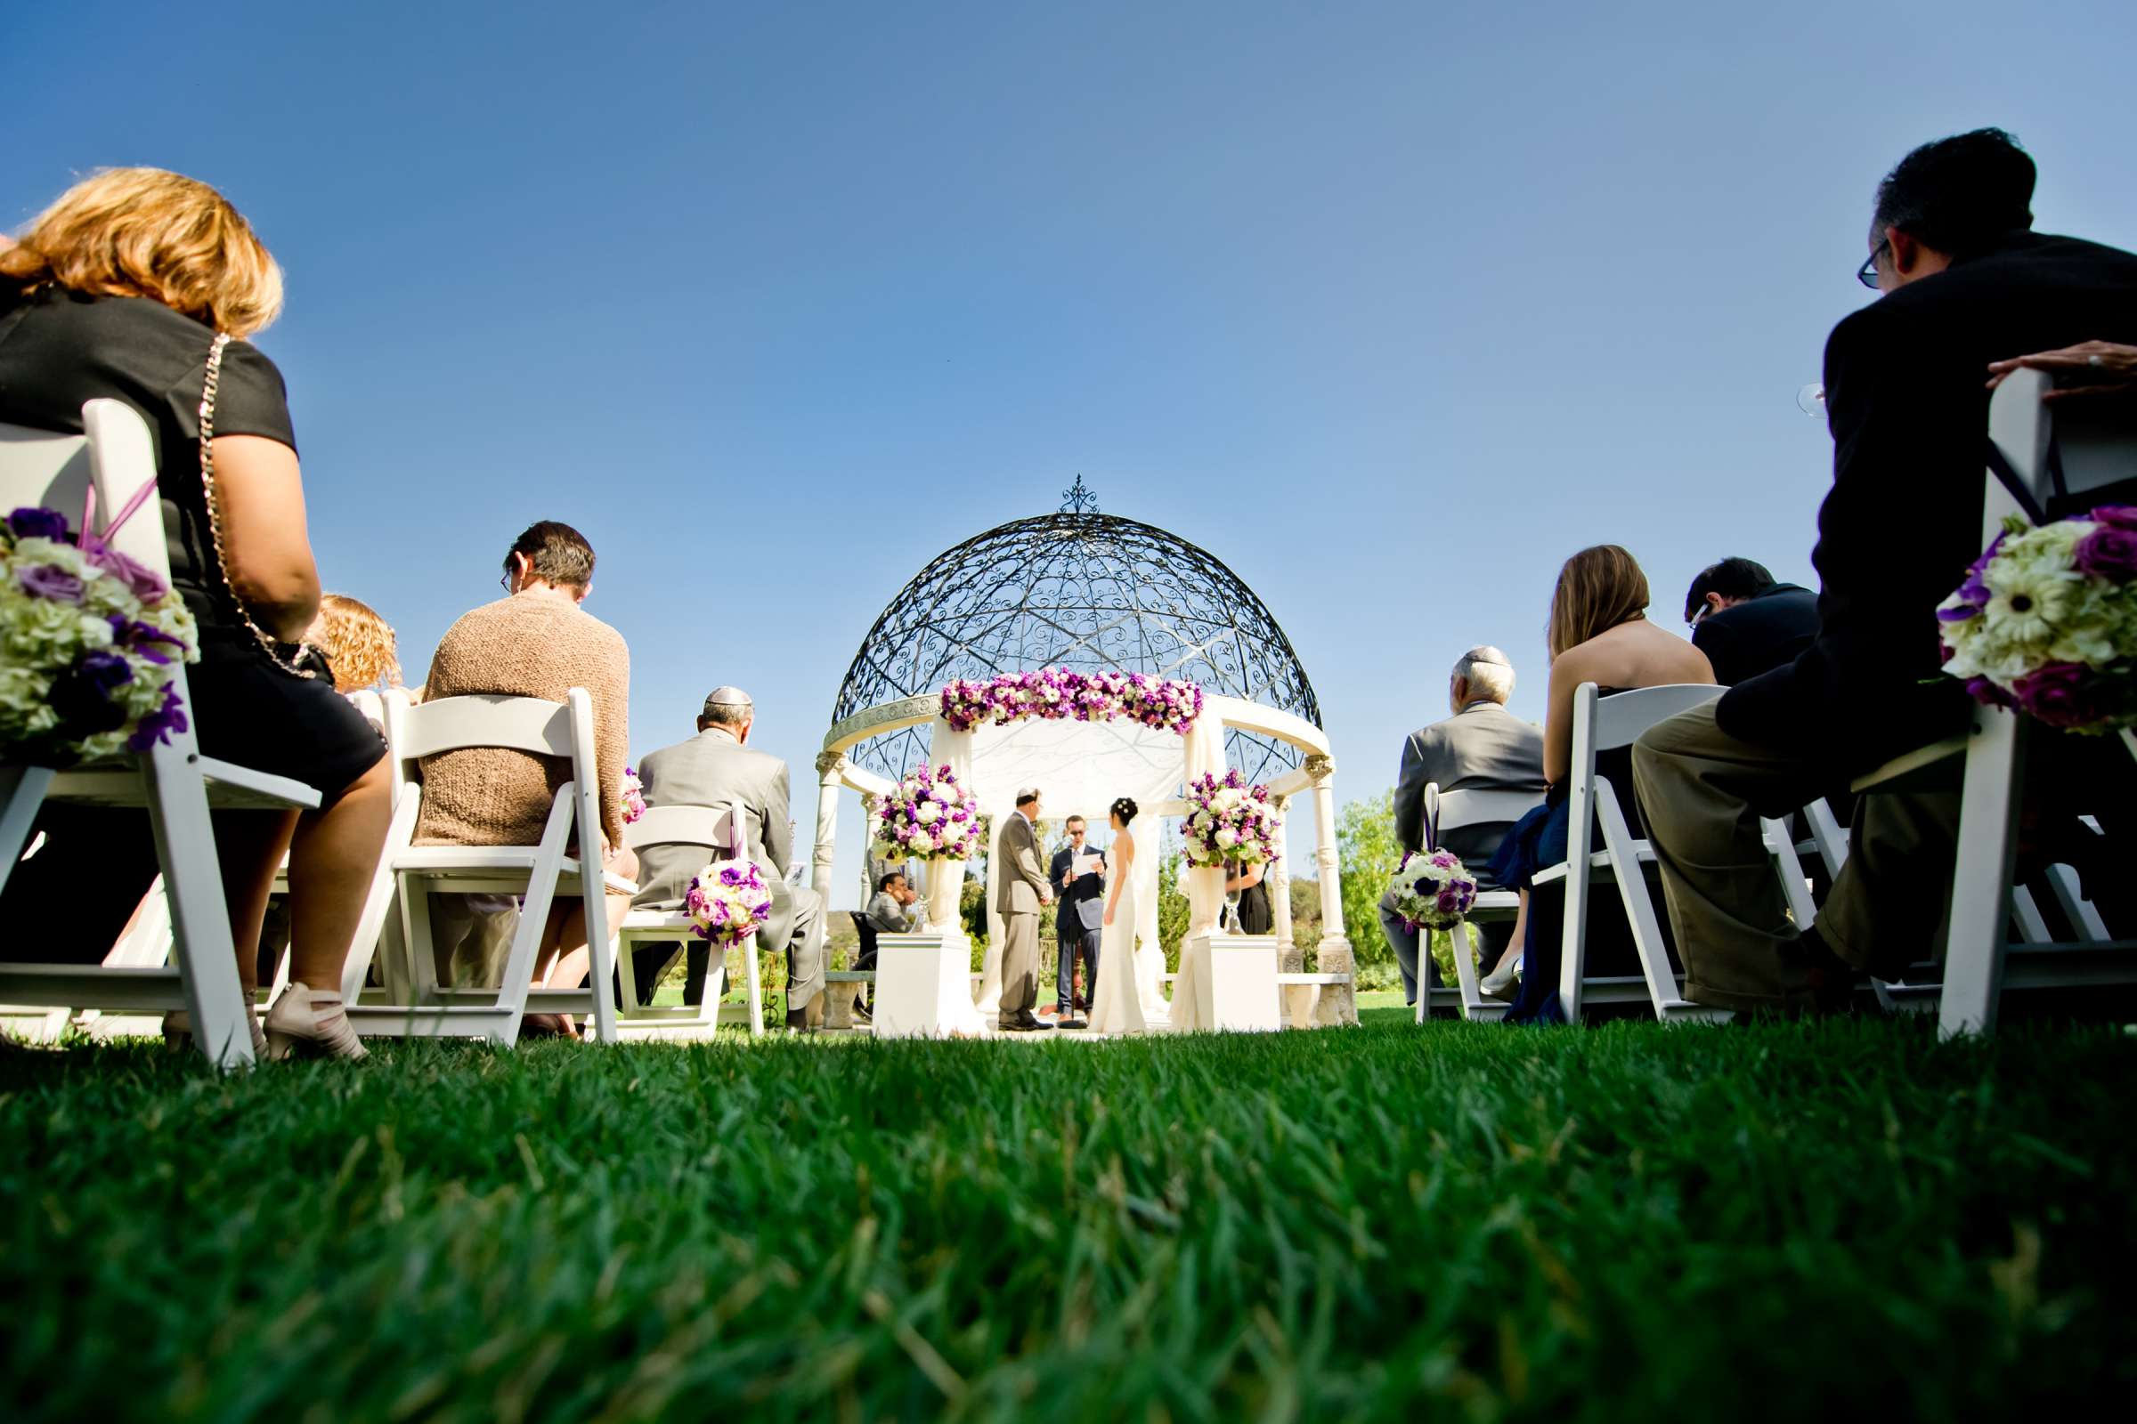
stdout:
{"type": "Polygon", "coordinates": [[[1669,963],[1669,948],[1663,942],[1663,922],[1654,914],[1654,897],[1648,895],[1645,867],[1654,865],[1654,848],[1648,841],[1633,839],[1633,830],[1624,820],[1624,807],[1618,803],[1618,788],[1607,777],[1596,775],[1598,751],[1628,747],[1656,722],[1675,717],[1693,707],[1703,707],[1720,694],[1722,690],[1712,683],[1637,687],[1607,698],[1598,696],[1594,683],[1581,683],[1573,692],[1566,858],[1562,865],[1545,867],[1532,880],[1534,886],[1566,884],[1558,1001],[1564,1006],[1569,1023],[1581,1020],[1584,999],[1628,1003],[1645,997],[1654,1003],[1656,1018],[1729,1016],[1727,1010],[1688,1001],[1680,991],[1678,974],[1669,963]],[[1603,850],[1592,850],[1598,828],[1603,833],[1603,850]],[[1569,867],[1584,867],[1584,873],[1573,875],[1569,867]],[[1618,899],[1624,901],[1624,918],[1633,931],[1633,948],[1639,952],[1641,978],[1586,978],[1588,899],[1590,884],[1598,875],[1618,882],[1618,899]]]}

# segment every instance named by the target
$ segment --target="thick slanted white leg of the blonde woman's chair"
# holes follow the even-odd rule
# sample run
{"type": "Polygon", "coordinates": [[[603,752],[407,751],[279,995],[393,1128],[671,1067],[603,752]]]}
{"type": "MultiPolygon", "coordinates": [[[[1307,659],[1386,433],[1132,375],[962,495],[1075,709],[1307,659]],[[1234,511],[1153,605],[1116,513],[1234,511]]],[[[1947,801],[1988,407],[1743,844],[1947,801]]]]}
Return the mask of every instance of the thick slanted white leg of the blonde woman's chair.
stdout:
{"type": "Polygon", "coordinates": [[[207,784],[186,751],[156,745],[141,764],[156,858],[171,901],[171,952],[192,1014],[192,1042],[216,1067],[250,1067],[252,1031],[231,944],[231,909],[222,899],[216,830],[207,820],[207,784]]]}

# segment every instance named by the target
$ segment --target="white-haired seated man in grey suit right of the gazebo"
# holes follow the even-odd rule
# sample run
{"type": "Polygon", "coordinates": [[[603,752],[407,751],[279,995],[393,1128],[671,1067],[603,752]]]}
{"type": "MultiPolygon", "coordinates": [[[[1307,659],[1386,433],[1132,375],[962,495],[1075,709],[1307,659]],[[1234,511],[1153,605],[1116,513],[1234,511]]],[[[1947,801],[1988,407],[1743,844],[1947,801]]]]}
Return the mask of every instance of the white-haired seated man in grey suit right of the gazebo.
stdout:
{"type": "MultiPolygon", "coordinates": [[[[1395,781],[1395,839],[1404,850],[1425,843],[1425,786],[1442,792],[1498,790],[1543,796],[1543,732],[1507,711],[1513,696],[1513,662],[1496,647],[1472,647],[1455,660],[1447,681],[1453,717],[1419,728],[1402,743],[1402,775],[1395,781]]],[[[1492,852],[1513,822],[1479,822],[1440,837],[1462,856],[1479,888],[1498,888],[1487,873],[1492,852]]],[[[1402,965],[1402,993],[1417,1003],[1417,931],[1404,929],[1389,899],[1381,901],[1381,929],[1402,965]]],[[[1496,965],[1513,937],[1511,922],[1479,924],[1485,967],[1496,965]]]]}

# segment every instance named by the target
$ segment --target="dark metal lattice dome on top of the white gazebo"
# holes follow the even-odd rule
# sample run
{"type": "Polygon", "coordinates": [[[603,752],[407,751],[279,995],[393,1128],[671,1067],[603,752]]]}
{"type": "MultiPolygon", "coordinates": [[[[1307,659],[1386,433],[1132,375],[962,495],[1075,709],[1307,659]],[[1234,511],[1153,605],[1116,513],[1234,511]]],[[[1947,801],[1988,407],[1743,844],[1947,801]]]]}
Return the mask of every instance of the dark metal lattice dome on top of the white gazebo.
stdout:
{"type": "MultiPolygon", "coordinates": [[[[1032,668],[1177,677],[1321,726],[1306,668],[1254,591],[1177,534],[1101,515],[1081,476],[1058,515],[968,538],[900,589],[831,715],[1032,668]]],[[[1246,730],[1231,730],[1225,751],[1257,781],[1299,764],[1295,747],[1246,730]]],[[[925,756],[925,728],[853,747],[857,764],[893,779],[925,756]]]]}

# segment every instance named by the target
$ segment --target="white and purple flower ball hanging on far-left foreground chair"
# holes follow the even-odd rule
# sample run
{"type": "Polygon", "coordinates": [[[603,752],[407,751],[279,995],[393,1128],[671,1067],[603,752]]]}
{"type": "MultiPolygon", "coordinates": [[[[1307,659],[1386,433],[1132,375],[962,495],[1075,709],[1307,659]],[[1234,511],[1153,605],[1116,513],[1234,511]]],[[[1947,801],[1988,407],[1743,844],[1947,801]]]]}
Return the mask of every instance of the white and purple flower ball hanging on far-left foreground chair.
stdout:
{"type": "Polygon", "coordinates": [[[6,760],[60,766],[169,743],[186,728],[171,666],[199,658],[192,613],[162,576],[96,536],[77,540],[56,510],[0,521],[6,760]]]}

